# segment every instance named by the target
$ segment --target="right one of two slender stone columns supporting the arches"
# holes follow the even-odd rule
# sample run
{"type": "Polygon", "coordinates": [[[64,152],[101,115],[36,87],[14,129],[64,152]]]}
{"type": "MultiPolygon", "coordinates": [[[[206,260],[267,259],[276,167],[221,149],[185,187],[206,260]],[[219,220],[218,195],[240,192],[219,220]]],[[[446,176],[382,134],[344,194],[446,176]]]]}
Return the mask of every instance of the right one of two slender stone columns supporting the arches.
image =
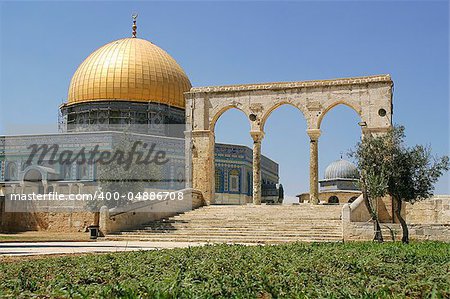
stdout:
{"type": "Polygon", "coordinates": [[[319,203],[319,137],[320,129],[307,130],[309,141],[309,202],[319,203]]]}

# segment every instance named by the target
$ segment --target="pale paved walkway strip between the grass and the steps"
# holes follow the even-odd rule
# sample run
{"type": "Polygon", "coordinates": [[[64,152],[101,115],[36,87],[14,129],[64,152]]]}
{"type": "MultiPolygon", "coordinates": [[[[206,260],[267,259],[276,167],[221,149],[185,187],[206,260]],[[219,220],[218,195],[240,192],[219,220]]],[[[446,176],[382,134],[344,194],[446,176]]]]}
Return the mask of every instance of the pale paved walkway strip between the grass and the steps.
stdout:
{"type": "Polygon", "coordinates": [[[204,244],[205,243],[193,242],[140,241],[0,243],[0,256],[155,250],[163,248],[184,248],[189,246],[200,246],[204,244]]]}

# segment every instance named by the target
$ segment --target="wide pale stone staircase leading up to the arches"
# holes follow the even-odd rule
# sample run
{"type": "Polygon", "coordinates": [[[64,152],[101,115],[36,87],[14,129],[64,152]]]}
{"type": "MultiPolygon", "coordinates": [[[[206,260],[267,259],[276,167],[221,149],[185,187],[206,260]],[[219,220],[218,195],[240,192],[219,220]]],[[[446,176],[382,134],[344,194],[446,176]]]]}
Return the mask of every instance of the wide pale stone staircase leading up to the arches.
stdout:
{"type": "Polygon", "coordinates": [[[211,205],[134,230],[112,233],[108,240],[154,242],[263,243],[341,241],[339,205],[211,205]]]}

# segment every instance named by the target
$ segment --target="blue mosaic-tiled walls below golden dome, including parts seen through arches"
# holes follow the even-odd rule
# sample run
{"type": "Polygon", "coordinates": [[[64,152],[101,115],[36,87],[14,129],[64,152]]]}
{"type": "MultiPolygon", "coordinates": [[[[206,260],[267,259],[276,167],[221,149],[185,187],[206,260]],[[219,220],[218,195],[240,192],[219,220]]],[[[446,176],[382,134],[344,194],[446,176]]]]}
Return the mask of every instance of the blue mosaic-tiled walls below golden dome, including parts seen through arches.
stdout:
{"type": "MultiPolygon", "coordinates": [[[[127,136],[155,144],[156,148],[167,153],[170,163],[160,170],[158,189],[182,189],[185,181],[185,140],[183,138],[163,137],[127,133],[127,136]]],[[[40,153],[33,161],[29,146],[36,144],[58,145],[58,153],[65,151],[79,152],[84,148],[89,152],[98,147],[98,151],[113,150],[120,143],[123,133],[119,132],[71,132],[48,135],[27,135],[2,137],[0,156],[0,182],[7,187],[8,192],[34,191],[47,193],[58,191],[93,192],[97,189],[98,165],[89,163],[50,164],[52,151],[49,151],[43,161],[38,162],[40,153]],[[40,180],[35,184],[32,181],[40,180]]],[[[216,192],[219,204],[244,204],[251,202],[252,197],[252,150],[246,146],[232,144],[216,144],[216,192]]],[[[58,160],[59,156],[52,157],[58,160]]],[[[264,202],[278,201],[278,164],[263,156],[262,160],[262,190],[264,202]]],[[[151,187],[151,186],[147,186],[151,187]]]]}

